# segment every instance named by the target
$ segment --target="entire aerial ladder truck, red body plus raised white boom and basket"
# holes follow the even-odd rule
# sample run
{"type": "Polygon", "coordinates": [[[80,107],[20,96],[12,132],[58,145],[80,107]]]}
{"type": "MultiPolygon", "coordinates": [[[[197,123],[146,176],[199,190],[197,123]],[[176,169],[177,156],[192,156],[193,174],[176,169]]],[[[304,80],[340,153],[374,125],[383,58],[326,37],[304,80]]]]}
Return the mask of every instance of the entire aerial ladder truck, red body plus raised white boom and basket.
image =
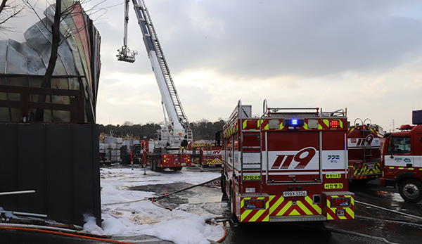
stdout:
{"type": "MultiPolygon", "coordinates": [[[[123,46],[118,50],[117,60],[134,63],[137,51],[127,48],[129,1],[124,0],[124,38],[123,46]]],[[[192,141],[192,130],[188,117],[181,106],[148,9],[143,0],[132,0],[132,4],[143,35],[143,43],[160,89],[165,121],[155,139],[146,141],[145,143],[148,145],[142,146],[143,165],[144,167],[150,165],[153,171],[164,168],[180,170],[182,167],[191,166],[191,158],[182,148],[188,145],[188,141],[192,141]]]]}

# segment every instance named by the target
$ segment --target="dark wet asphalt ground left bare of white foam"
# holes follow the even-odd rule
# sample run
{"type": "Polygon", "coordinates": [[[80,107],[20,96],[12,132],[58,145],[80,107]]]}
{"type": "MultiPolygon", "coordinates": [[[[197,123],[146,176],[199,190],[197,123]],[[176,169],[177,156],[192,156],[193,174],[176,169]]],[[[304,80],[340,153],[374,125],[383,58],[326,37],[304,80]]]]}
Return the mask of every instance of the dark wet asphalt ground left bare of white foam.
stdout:
{"type": "MultiPolygon", "coordinates": [[[[200,171],[197,168],[184,170],[200,171]]],[[[219,171],[219,168],[203,169],[219,171]]],[[[185,183],[163,184],[131,188],[132,191],[154,191],[158,195],[171,193],[189,186],[185,183]]],[[[350,184],[350,191],[355,193],[355,200],[370,203],[390,210],[422,217],[422,203],[407,203],[402,200],[396,189],[385,188],[379,180],[370,181],[365,186],[350,184]]],[[[181,193],[169,195],[158,200],[158,204],[177,208],[188,206],[187,211],[196,214],[210,214],[215,217],[229,217],[229,204],[222,201],[219,186],[198,186],[181,193]]],[[[359,203],[355,204],[355,219],[347,221],[297,222],[297,223],[252,223],[233,224],[222,221],[219,224],[226,230],[226,238],[221,243],[422,243],[422,220],[380,210],[359,203]]],[[[28,231],[10,231],[0,229],[1,243],[172,243],[153,236],[114,237],[104,240],[92,240],[59,236],[50,233],[28,231]]]]}

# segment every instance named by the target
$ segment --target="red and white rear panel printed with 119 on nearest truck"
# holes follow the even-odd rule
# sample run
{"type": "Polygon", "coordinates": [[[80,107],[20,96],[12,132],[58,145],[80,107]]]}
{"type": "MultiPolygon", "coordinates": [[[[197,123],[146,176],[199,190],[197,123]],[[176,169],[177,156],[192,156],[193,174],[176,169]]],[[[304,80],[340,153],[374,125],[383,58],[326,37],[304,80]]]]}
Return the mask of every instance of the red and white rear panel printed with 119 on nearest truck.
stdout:
{"type": "Polygon", "coordinates": [[[264,137],[267,183],[321,181],[319,131],[268,131],[264,137]]]}

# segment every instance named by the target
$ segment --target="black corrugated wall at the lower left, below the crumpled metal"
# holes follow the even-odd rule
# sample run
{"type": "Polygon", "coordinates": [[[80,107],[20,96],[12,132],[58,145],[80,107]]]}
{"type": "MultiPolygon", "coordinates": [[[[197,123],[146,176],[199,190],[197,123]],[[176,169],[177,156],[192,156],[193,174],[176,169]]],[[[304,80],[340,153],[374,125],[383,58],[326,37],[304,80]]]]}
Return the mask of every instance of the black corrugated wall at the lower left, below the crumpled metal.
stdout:
{"type": "Polygon", "coordinates": [[[0,195],[0,207],[101,226],[98,158],[98,124],[0,123],[0,192],[36,191],[0,195]]]}

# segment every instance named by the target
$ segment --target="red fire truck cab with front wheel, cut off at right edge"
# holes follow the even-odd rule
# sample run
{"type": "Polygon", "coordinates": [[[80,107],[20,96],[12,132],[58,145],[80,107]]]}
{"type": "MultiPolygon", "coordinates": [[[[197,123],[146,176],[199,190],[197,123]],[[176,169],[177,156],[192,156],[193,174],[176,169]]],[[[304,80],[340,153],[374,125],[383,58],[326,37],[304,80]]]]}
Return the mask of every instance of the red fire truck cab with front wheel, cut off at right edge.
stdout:
{"type": "Polygon", "coordinates": [[[383,146],[381,185],[399,187],[404,200],[422,200],[422,110],[413,111],[415,126],[402,126],[402,131],[386,134],[383,146]]]}

